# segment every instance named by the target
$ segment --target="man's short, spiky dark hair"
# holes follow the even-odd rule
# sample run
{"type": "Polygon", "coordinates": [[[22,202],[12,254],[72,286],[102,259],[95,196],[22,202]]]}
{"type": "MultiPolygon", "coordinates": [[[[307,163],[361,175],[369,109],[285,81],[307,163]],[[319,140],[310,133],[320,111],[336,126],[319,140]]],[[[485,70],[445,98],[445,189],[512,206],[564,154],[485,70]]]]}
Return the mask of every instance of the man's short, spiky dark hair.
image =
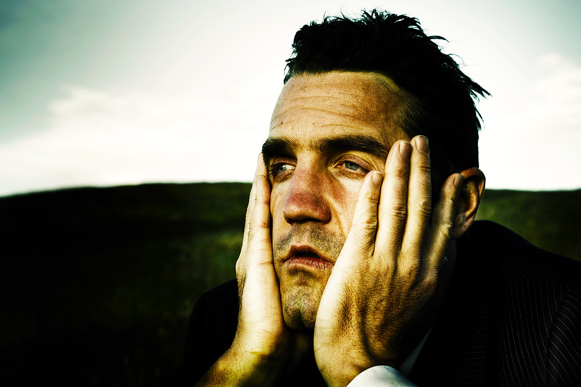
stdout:
{"type": "Polygon", "coordinates": [[[410,138],[429,138],[432,188],[444,178],[478,167],[478,96],[490,95],[440,51],[419,20],[374,9],[359,19],[326,16],[297,31],[286,60],[286,83],[302,74],[330,71],[372,72],[389,77],[404,92],[399,125],[410,138]]]}

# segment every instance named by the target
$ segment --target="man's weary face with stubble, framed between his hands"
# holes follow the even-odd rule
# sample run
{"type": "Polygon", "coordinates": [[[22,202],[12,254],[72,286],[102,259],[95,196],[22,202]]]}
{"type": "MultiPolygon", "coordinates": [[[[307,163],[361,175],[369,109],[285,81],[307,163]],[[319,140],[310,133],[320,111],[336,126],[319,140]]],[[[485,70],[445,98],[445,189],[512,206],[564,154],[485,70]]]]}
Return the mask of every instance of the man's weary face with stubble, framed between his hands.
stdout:
{"type": "Polygon", "coordinates": [[[349,72],[292,77],[282,89],[263,156],[271,170],[274,265],[290,328],[314,328],[363,178],[383,172],[393,142],[410,139],[399,128],[402,106],[393,91],[385,77],[349,72]]]}

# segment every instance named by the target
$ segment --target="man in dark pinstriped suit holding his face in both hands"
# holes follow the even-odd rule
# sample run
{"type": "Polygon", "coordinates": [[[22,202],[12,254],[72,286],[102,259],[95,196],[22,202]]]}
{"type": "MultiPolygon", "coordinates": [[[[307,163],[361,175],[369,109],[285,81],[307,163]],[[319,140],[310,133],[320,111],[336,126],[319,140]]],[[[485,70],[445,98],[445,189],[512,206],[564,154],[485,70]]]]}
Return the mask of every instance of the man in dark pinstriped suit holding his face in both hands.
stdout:
{"type": "Polygon", "coordinates": [[[579,385],[579,264],[474,222],[488,93],[439,38],[376,10],[296,34],[190,384],[579,385]]]}

